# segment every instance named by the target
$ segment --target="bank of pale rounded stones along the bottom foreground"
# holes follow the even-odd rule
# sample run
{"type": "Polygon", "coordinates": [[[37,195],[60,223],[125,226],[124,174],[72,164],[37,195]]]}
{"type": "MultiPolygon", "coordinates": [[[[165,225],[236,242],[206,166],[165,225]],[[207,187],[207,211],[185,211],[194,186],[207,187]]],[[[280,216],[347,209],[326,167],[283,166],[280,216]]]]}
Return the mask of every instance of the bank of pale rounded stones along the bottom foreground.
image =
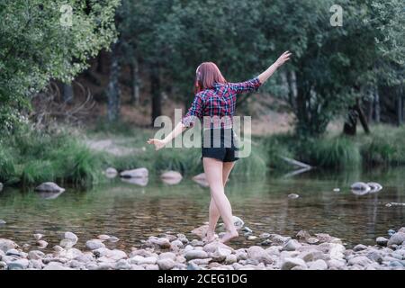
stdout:
{"type": "Polygon", "coordinates": [[[398,270],[405,269],[405,227],[389,230],[374,246],[346,248],[329,234],[311,236],[300,231],[295,238],[264,233],[261,246],[234,249],[218,241],[204,243],[183,234],[162,234],[142,240],[139,248],[125,252],[105,247],[119,241],[100,235],[76,248],[72,232],[61,235],[52,253],[41,251],[46,242],[34,234],[39,247],[18,246],[0,238],[0,270],[398,270]],[[42,242],[41,242],[42,241],[42,242]]]}

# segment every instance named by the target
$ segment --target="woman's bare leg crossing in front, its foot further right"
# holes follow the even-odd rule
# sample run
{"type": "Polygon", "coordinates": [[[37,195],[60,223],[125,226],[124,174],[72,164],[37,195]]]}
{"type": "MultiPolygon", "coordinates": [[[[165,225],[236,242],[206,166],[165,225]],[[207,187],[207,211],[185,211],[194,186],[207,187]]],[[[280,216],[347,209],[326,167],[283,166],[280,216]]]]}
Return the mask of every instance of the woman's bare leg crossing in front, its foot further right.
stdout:
{"type": "Polygon", "coordinates": [[[231,238],[238,237],[238,231],[233,224],[232,208],[230,207],[229,200],[224,193],[224,186],[222,183],[223,163],[217,159],[203,157],[202,164],[204,166],[204,172],[208,184],[210,184],[211,198],[217,205],[218,211],[220,211],[220,216],[222,217],[227,229],[227,233],[221,239],[222,242],[226,242],[231,238]]]}

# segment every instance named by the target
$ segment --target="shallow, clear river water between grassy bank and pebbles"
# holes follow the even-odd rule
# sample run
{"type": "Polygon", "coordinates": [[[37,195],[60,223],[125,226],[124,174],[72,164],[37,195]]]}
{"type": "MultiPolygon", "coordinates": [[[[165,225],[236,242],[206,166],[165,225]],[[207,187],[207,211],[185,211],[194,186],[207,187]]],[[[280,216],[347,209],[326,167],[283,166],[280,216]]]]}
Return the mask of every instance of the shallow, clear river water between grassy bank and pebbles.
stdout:
{"type": "MultiPolygon", "coordinates": [[[[405,226],[405,168],[333,173],[311,171],[302,175],[266,178],[231,175],[226,188],[234,215],[245,221],[258,236],[262,232],[294,236],[299,230],[329,233],[347,246],[374,244],[388,229],[405,226]],[[378,193],[356,195],[349,189],[356,181],[383,185],[378,193]],[[339,188],[339,192],[334,192],[339,188]],[[289,193],[300,195],[290,199],[289,193]]],[[[67,188],[57,198],[46,199],[34,191],[5,188],[0,193],[0,238],[33,245],[33,233],[42,233],[49,248],[58,244],[59,233],[72,231],[77,247],[99,234],[120,238],[114,247],[129,250],[140,239],[166,231],[184,233],[208,220],[209,190],[191,179],[167,185],[149,179],[147,186],[114,179],[87,191],[67,188]]],[[[220,229],[218,230],[220,231],[220,229]]],[[[195,237],[194,237],[195,238],[195,237]]],[[[241,235],[236,247],[260,243],[241,235]]]]}

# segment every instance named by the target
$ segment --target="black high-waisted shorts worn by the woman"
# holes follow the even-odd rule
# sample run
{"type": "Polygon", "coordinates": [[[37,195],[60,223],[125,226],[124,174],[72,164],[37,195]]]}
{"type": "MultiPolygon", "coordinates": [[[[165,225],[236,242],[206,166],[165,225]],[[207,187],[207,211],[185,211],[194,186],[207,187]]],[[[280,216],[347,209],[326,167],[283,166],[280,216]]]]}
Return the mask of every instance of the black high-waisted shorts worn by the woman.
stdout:
{"type": "Polygon", "coordinates": [[[222,162],[238,160],[238,141],[232,129],[207,129],[202,133],[202,157],[222,162]]]}

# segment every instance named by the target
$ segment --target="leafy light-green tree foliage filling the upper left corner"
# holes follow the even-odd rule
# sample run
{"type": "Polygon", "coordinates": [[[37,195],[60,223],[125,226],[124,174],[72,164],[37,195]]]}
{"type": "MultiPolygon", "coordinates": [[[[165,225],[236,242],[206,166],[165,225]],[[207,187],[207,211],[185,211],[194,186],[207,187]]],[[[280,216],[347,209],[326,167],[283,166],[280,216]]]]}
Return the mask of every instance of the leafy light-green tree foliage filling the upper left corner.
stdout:
{"type": "Polygon", "coordinates": [[[0,130],[24,121],[50,79],[69,83],[116,38],[119,0],[0,2],[0,130]]]}

